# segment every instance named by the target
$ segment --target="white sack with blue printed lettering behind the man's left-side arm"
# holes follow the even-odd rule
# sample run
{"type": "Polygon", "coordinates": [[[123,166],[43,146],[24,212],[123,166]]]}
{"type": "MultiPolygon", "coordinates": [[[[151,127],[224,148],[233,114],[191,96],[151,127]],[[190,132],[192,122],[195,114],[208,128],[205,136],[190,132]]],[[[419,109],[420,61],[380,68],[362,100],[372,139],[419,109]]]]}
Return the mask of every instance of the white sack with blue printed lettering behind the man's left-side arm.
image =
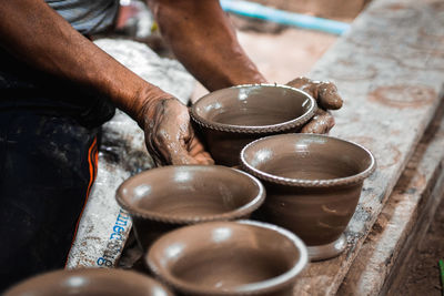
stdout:
{"type": "MultiPolygon", "coordinates": [[[[176,61],[159,58],[147,45],[102,39],[95,44],[134,73],[172,93],[186,104],[194,79],[176,61]]],[[[138,124],[121,111],[102,129],[99,170],[79,224],[67,267],[112,267],[131,229],[131,218],[114,200],[115,190],[129,176],[151,169],[138,124]]]]}

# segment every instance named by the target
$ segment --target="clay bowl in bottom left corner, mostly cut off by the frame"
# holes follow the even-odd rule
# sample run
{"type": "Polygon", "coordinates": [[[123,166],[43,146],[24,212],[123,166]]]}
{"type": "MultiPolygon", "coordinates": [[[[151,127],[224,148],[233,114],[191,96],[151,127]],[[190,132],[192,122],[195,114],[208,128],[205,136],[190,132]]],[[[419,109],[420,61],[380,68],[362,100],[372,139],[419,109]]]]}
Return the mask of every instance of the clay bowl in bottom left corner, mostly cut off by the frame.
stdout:
{"type": "MultiPolygon", "coordinates": [[[[57,288],[60,293],[61,290],[72,289],[69,295],[72,295],[75,292],[75,295],[80,295],[79,292],[88,287],[83,287],[83,285],[92,286],[91,282],[104,282],[108,283],[120,283],[122,286],[127,286],[124,288],[134,288],[134,285],[140,289],[143,290],[144,295],[163,295],[163,296],[172,296],[173,294],[169,288],[165,287],[164,284],[160,283],[159,280],[140,273],[135,273],[132,271],[122,271],[122,269],[114,269],[114,268],[78,268],[78,269],[59,269],[53,272],[47,272],[44,274],[40,274],[33,276],[31,278],[24,279],[14,286],[10,287],[8,290],[4,292],[4,296],[18,296],[18,295],[43,295],[41,293],[49,292],[48,289],[57,288]],[[70,284],[74,283],[74,284],[70,284]],[[78,284],[75,286],[75,283],[78,284]],[[80,286],[79,286],[80,285],[80,286]],[[71,287],[69,287],[71,286],[71,287]],[[79,290],[80,288],[80,290],[79,290]],[[153,288],[151,290],[149,288],[153,288]],[[31,294],[29,294],[31,293],[31,294]]],[[[90,287],[91,288],[91,287],[90,287]]],[[[107,290],[100,292],[95,287],[95,294],[104,294],[107,290]]],[[[53,292],[54,293],[54,292],[53,292]]],[[[94,294],[94,295],[95,295],[94,294]]],[[[44,295],[49,295],[44,293],[44,295]]],[[[51,294],[56,295],[56,294],[51,294]]],[[[82,294],[83,295],[83,294],[82,294]]],[[[138,294],[140,295],[140,294],[138,294]]]]}

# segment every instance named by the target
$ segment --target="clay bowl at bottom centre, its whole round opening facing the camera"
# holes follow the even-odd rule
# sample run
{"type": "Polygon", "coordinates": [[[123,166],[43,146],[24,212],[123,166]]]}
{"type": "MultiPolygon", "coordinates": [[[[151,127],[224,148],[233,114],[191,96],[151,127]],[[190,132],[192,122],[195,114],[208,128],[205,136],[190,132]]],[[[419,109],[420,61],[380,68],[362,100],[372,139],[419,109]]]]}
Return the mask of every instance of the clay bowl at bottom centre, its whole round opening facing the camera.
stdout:
{"type": "MultiPolygon", "coordinates": [[[[256,262],[258,258],[264,259],[264,257],[251,257],[251,263],[256,262]],[[255,258],[255,261],[253,258],[255,258]]],[[[210,222],[175,229],[161,236],[157,242],[154,242],[145,255],[145,263],[150,269],[162,282],[172,286],[179,293],[184,293],[186,295],[214,296],[292,295],[292,287],[295,283],[294,280],[306,266],[307,261],[306,247],[296,235],[276,225],[248,220],[235,222],[210,222]],[[219,233],[221,229],[232,231],[232,235],[221,235],[221,237],[218,237],[215,233],[219,233]],[[248,235],[249,231],[251,232],[251,236],[248,235]],[[245,238],[245,235],[248,238],[245,238]],[[271,235],[274,237],[273,239],[270,238],[271,235]],[[195,239],[195,236],[199,236],[201,239],[195,239]],[[276,243],[276,239],[279,243],[276,243]],[[200,246],[199,244],[202,242],[203,246],[200,246]],[[208,245],[213,245],[214,248],[209,247],[205,243],[208,245]],[[219,244],[222,246],[218,246],[219,244]],[[225,244],[228,246],[225,246],[225,244]],[[280,248],[281,252],[270,252],[270,249],[264,249],[266,248],[264,246],[270,247],[270,249],[273,247],[280,248]],[[233,247],[238,247],[239,249],[233,249],[233,247]],[[244,273],[248,274],[249,264],[238,266],[239,268],[233,268],[233,266],[230,266],[230,268],[218,268],[212,266],[214,262],[230,265],[230,259],[236,264],[236,257],[233,254],[244,251],[245,248],[248,249],[248,252],[245,251],[246,254],[265,251],[265,255],[268,255],[266,259],[270,262],[280,262],[280,259],[286,261],[284,269],[280,269],[280,274],[275,274],[273,277],[260,282],[233,283],[232,279],[226,280],[226,275],[224,276],[219,273],[229,272],[230,277],[233,273],[242,273],[243,271],[241,269],[246,268],[244,273]],[[205,253],[205,251],[208,253],[205,253]],[[226,258],[223,256],[225,253],[230,253],[231,255],[228,254],[229,256],[226,258]],[[199,254],[199,256],[193,257],[194,254],[199,254]],[[210,258],[206,257],[208,254],[211,254],[210,258]],[[218,256],[221,256],[223,259],[218,261],[218,256]],[[191,257],[191,262],[186,263],[189,257],[191,257]],[[204,285],[193,283],[190,278],[183,278],[181,272],[178,272],[183,267],[183,269],[188,269],[186,266],[190,264],[196,266],[192,261],[195,258],[199,259],[199,257],[204,257],[205,261],[195,263],[198,264],[198,267],[203,263],[206,265],[206,269],[214,272],[210,273],[203,268],[202,271],[205,271],[205,273],[198,275],[199,280],[208,279],[206,277],[210,277],[209,280],[204,280],[204,285]],[[202,279],[201,277],[204,278],[202,279]],[[218,283],[214,284],[212,280],[218,280],[218,283]]],[[[263,264],[266,267],[270,267],[266,263],[263,264]]],[[[261,266],[264,267],[264,265],[261,266]]],[[[255,271],[258,271],[258,268],[255,271]]],[[[236,275],[236,279],[239,277],[243,279],[242,274],[240,276],[236,275]]]]}

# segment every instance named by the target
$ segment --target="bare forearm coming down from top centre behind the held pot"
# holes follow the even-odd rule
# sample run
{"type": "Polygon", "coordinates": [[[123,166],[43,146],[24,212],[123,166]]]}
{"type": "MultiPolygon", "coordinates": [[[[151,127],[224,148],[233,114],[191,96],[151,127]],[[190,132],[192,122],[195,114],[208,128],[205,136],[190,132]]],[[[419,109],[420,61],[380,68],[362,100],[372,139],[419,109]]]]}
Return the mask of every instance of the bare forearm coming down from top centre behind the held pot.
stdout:
{"type": "Polygon", "coordinates": [[[218,0],[149,0],[176,58],[208,88],[265,82],[218,0]]]}

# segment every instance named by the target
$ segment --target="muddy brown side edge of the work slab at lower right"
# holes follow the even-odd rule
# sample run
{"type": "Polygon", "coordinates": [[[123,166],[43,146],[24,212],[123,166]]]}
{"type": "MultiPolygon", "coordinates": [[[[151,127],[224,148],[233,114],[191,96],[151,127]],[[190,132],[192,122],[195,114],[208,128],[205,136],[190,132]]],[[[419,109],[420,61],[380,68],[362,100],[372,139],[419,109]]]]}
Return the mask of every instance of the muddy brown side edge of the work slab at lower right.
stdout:
{"type": "MultiPolygon", "coordinates": [[[[415,251],[427,228],[444,190],[444,105],[427,129],[411,161],[387,200],[359,256],[353,262],[339,295],[377,295],[394,271],[406,262],[403,249],[415,251]],[[420,235],[415,235],[418,233],[420,235]]],[[[434,258],[434,263],[438,258],[434,258]]],[[[410,273],[406,269],[405,273],[410,273]]],[[[400,273],[394,273],[398,275],[400,273]]],[[[428,275],[438,280],[438,272],[428,275]]],[[[438,284],[438,283],[437,283],[438,284]]],[[[430,288],[430,287],[428,287],[430,288]]],[[[396,294],[394,294],[396,295],[396,294]]],[[[401,295],[414,295],[402,293],[401,295]]]]}

